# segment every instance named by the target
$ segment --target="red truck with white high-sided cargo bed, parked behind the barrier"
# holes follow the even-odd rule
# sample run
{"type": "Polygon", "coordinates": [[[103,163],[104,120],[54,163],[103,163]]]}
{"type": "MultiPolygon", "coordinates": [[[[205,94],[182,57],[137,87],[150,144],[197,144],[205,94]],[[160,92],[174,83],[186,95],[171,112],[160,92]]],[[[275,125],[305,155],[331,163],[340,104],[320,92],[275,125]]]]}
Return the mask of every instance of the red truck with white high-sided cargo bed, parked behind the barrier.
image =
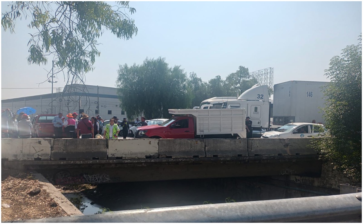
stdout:
{"type": "Polygon", "coordinates": [[[245,108],[169,109],[180,115],[160,125],[138,127],[135,138],[245,138],[245,108]]]}

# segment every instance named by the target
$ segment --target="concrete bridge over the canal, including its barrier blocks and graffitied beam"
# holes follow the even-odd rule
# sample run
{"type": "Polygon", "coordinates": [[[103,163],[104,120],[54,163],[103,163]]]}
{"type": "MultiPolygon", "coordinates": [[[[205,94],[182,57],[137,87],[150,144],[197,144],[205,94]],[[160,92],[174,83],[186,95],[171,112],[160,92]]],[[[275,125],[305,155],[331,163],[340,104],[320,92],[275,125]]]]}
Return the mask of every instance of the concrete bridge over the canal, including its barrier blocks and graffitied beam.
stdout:
{"type": "Polygon", "coordinates": [[[2,139],[5,167],[54,184],[320,176],[311,139],[2,139]]]}

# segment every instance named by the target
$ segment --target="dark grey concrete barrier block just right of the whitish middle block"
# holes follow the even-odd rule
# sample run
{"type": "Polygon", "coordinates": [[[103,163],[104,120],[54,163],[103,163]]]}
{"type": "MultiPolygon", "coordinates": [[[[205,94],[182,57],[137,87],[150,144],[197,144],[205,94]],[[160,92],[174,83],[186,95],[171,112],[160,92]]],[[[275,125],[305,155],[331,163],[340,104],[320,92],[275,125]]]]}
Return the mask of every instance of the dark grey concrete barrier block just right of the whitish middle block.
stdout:
{"type": "Polygon", "coordinates": [[[159,158],[205,157],[203,139],[159,139],[159,158]]]}

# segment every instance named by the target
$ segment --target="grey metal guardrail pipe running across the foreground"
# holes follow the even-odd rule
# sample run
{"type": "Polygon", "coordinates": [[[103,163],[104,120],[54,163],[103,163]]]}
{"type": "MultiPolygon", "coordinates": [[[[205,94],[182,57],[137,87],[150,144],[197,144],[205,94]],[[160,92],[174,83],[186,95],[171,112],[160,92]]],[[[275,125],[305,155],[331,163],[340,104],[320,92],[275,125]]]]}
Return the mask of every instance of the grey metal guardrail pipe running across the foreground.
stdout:
{"type": "Polygon", "coordinates": [[[280,200],[140,209],[100,215],[24,220],[26,223],[222,223],[362,221],[362,192],[280,200]]]}

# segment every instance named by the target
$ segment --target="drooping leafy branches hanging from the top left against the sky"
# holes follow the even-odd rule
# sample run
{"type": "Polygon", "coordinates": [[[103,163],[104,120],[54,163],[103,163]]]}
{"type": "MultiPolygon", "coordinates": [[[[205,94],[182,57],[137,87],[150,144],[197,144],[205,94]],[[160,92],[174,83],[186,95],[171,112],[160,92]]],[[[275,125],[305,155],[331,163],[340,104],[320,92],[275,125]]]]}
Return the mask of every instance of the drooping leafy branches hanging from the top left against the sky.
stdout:
{"type": "Polygon", "coordinates": [[[104,29],[126,40],[138,31],[125,13],[136,12],[127,1],[118,6],[103,1],[15,1],[9,7],[9,12],[2,13],[5,31],[13,33],[16,19],[31,17],[29,64],[45,65],[52,57],[56,73],[63,73],[67,84],[83,83],[84,73],[93,70],[100,55],[97,39],[104,29]]]}

